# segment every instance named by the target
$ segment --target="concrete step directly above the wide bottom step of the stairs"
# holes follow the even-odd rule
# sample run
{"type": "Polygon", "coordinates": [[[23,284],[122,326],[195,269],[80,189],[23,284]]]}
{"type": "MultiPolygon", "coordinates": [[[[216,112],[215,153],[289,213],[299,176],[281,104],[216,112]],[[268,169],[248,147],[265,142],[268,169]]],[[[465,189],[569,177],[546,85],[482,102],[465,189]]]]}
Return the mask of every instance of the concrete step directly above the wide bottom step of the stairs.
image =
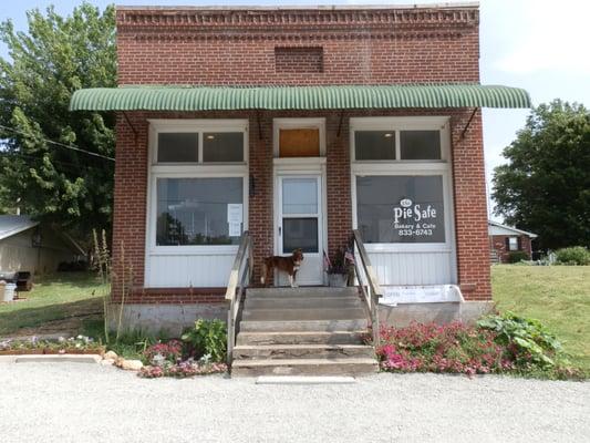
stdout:
{"type": "Polygon", "coordinates": [[[337,359],[375,358],[375,350],[366,344],[257,344],[237,346],[234,359],[337,359]]]}

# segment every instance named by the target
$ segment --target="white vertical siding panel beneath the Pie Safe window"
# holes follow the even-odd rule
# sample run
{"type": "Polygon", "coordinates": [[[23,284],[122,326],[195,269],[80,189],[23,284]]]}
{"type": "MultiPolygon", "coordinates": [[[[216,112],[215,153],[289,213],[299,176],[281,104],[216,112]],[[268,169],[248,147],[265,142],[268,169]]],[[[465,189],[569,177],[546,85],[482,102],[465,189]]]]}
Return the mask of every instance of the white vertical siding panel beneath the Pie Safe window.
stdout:
{"type": "Polygon", "coordinates": [[[456,284],[449,251],[369,253],[369,258],[383,286],[456,284]]]}

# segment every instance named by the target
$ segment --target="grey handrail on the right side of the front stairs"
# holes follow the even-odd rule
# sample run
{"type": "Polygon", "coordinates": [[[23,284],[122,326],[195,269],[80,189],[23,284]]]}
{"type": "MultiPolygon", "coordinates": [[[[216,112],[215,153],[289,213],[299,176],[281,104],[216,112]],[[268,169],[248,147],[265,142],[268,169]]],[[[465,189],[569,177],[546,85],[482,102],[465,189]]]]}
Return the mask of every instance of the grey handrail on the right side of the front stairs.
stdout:
{"type": "Polygon", "coordinates": [[[361,233],[359,233],[358,229],[353,229],[352,238],[353,238],[354,246],[355,246],[354,250],[359,251],[358,256],[360,258],[360,260],[358,259],[354,260],[354,270],[356,271],[356,279],[359,280],[359,287],[361,288],[361,292],[366,302],[366,307],[369,309],[369,313],[371,317],[373,344],[375,347],[379,347],[380,346],[380,336],[379,336],[380,328],[379,328],[377,305],[379,305],[379,298],[383,296],[383,291],[381,290],[381,286],[379,285],[375,270],[373,269],[373,266],[371,265],[371,259],[369,258],[369,255],[366,254],[366,249],[364,248],[364,244],[361,238],[361,233]],[[358,266],[359,261],[362,265],[361,268],[359,268],[358,266]]]}

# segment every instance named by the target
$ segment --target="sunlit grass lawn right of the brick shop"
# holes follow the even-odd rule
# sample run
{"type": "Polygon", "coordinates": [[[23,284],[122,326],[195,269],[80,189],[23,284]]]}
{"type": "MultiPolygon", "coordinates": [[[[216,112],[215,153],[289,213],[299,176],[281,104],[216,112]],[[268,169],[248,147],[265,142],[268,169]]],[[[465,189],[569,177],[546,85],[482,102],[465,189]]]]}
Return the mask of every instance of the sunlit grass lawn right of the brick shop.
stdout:
{"type": "Polygon", "coordinates": [[[590,266],[491,267],[494,301],[542,321],[590,374],[590,266]]]}

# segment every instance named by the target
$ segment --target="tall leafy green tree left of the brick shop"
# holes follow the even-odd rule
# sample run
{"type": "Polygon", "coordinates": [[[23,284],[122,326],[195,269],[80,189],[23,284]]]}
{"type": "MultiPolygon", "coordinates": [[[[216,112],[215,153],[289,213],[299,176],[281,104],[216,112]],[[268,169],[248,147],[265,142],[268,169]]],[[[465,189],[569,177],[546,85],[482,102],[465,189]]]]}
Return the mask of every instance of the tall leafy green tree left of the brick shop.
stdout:
{"type": "Polygon", "coordinates": [[[28,33],[0,24],[10,53],[0,58],[0,210],[18,206],[89,238],[111,226],[114,162],[104,157],[115,120],[68,106],[77,89],[116,85],[115,10],[83,3],[66,18],[52,7],[27,17],[28,33]]]}

